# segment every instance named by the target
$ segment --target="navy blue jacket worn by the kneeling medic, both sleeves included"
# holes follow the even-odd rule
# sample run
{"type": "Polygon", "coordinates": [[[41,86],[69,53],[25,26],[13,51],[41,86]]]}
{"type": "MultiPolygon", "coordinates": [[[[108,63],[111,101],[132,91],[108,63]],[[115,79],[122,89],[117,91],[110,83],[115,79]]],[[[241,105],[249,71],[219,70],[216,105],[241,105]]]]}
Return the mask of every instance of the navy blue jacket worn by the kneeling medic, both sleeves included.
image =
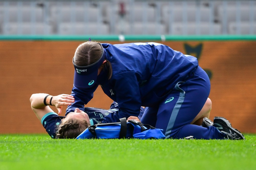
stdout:
{"type": "Polygon", "coordinates": [[[118,102],[119,111],[103,118],[103,123],[118,122],[120,118],[138,116],[141,106],[158,106],[178,82],[185,81],[198,67],[197,58],[159,43],[102,44],[105,59],[113,69],[107,79],[102,70],[96,84],[88,89],[73,87],[75,102],[67,113],[83,108],[100,85],[106,95],[118,102]]]}

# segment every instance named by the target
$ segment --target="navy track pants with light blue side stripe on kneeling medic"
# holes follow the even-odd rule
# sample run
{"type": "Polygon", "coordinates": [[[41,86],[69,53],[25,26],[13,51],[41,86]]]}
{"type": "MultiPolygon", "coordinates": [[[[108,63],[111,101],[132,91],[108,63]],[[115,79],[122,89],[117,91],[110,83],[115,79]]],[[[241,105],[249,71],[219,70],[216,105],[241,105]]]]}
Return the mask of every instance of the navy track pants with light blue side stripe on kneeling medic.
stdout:
{"type": "Polygon", "coordinates": [[[166,138],[223,139],[217,128],[190,124],[204,106],[210,93],[210,80],[198,67],[185,82],[179,82],[157,107],[146,107],[141,122],[163,129],[166,138]]]}

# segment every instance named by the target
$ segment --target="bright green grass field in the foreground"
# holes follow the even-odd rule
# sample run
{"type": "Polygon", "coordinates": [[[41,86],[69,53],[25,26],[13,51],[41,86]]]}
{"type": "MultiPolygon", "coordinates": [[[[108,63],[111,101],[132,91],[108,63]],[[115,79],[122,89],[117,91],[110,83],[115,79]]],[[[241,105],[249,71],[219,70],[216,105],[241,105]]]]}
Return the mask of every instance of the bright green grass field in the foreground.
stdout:
{"type": "Polygon", "coordinates": [[[51,139],[0,135],[0,169],[255,169],[246,140],[51,139]]]}

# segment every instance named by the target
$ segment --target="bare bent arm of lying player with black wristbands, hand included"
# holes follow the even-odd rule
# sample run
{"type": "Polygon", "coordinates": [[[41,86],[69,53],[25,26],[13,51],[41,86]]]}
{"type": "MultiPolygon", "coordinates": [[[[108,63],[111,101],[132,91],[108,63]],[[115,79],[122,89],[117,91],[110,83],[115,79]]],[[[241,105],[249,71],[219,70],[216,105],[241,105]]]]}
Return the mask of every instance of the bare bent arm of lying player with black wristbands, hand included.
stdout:
{"type": "Polygon", "coordinates": [[[31,108],[35,112],[39,120],[50,112],[54,112],[49,105],[55,106],[60,115],[62,112],[62,107],[65,105],[70,105],[74,102],[74,97],[68,94],[61,94],[58,96],[51,96],[45,93],[33,94],[30,97],[31,108]]]}

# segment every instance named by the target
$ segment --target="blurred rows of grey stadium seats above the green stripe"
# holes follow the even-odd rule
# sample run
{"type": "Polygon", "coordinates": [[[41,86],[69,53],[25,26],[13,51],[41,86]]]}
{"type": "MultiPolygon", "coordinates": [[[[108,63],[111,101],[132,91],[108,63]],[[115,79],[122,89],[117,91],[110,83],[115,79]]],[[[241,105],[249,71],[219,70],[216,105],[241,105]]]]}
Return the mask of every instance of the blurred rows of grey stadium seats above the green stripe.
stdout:
{"type": "Polygon", "coordinates": [[[64,35],[254,34],[255,11],[256,2],[249,0],[5,0],[0,1],[0,34],[25,34],[24,29],[41,34],[42,25],[49,28],[44,34],[64,35]]]}

